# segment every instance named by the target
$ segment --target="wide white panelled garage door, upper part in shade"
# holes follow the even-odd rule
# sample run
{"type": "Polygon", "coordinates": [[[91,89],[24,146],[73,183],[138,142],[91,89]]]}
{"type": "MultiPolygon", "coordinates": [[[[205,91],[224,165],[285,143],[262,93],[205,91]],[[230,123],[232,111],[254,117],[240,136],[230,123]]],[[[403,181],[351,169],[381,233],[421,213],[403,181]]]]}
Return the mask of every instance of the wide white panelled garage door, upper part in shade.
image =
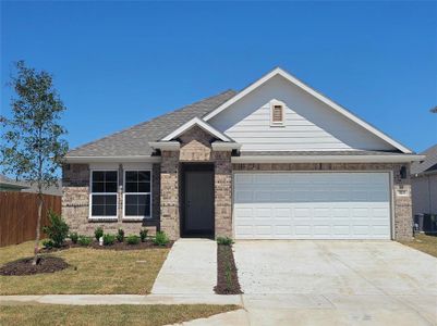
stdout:
{"type": "Polygon", "coordinates": [[[235,173],[236,239],[390,239],[388,173],[235,173]]]}

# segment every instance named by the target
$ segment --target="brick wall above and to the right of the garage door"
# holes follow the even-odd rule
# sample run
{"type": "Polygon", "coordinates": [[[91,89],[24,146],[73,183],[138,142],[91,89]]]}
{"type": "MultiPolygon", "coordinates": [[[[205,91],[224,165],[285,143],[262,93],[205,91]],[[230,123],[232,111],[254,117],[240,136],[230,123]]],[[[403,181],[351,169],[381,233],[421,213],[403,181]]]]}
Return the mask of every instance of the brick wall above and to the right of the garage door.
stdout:
{"type": "Polygon", "coordinates": [[[393,173],[393,213],[394,239],[411,240],[412,204],[410,165],[398,163],[259,163],[232,164],[236,171],[392,171],[393,173]],[[401,178],[401,167],[406,167],[406,178],[401,178]],[[406,196],[399,196],[398,190],[405,190],[406,196]]]}

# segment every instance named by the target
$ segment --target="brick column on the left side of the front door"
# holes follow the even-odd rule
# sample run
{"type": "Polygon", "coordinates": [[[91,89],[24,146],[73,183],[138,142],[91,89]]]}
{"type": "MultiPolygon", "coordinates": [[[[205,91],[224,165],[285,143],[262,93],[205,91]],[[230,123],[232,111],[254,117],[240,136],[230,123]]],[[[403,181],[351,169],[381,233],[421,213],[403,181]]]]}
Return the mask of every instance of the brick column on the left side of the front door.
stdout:
{"type": "Polygon", "coordinates": [[[161,152],[161,221],[160,229],[171,240],[180,238],[179,151],[161,152]]]}

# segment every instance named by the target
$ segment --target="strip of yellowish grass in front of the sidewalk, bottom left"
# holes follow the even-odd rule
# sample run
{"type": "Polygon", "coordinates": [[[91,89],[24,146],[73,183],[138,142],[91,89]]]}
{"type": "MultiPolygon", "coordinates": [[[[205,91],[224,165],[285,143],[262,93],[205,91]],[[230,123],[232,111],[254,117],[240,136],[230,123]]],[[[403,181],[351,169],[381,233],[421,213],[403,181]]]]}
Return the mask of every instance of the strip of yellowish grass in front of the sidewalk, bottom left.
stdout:
{"type": "Polygon", "coordinates": [[[2,325],[167,325],[209,317],[236,305],[0,305],[2,325]]]}

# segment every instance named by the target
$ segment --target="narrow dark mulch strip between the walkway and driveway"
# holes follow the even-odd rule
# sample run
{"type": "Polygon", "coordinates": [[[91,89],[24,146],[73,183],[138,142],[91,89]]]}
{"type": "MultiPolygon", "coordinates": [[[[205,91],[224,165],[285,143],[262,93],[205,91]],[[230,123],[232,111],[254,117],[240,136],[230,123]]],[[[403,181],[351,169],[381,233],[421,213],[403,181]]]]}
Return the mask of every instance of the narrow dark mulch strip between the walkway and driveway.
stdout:
{"type": "Polygon", "coordinates": [[[239,275],[233,259],[232,246],[217,246],[217,294],[240,294],[239,275]]]}

